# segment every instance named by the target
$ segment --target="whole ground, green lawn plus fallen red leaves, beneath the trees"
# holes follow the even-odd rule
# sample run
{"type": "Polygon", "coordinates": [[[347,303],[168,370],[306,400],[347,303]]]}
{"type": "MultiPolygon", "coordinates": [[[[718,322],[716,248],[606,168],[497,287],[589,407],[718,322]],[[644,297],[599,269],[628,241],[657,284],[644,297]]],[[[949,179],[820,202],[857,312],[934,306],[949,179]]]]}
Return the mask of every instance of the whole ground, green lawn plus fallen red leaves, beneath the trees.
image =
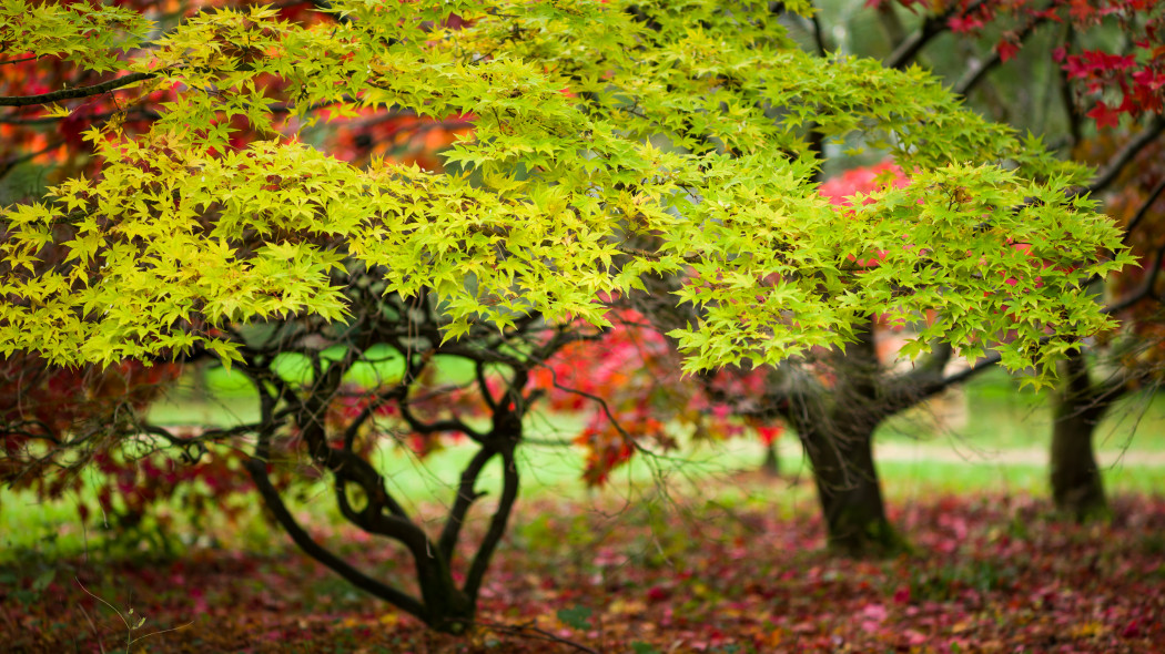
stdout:
{"type": "MultiPolygon", "coordinates": [[[[213,403],[179,389],[151,418],[254,417],[236,379],[213,372],[206,385],[213,403]]],[[[185,555],[167,557],[144,535],[106,549],[100,520],[82,525],[76,498],[0,491],[0,639],[27,652],[121,651],[127,635],[154,632],[129,649],[577,652],[522,631],[532,625],[603,653],[972,652],[983,642],[1160,652],[1162,403],[1132,398],[1102,426],[1103,456],[1123,454],[1104,469],[1116,517],[1075,526],[1052,520],[1044,499],[1040,401],[988,378],[969,389],[961,418],[937,426],[919,412],[877,435],[890,518],[916,546],[882,562],[822,552],[812,478],[791,434],[778,441],[779,478],[757,472],[762,446],[736,439],[638,457],[588,489],[582,453],[563,445],[584,417],[534,415],[518,455],[522,499],[481,599],[486,626],[469,639],[433,634],[355,591],[254,519],[253,497],[238,498],[249,512],[234,523],[172,512],[185,555]],[[114,609],[148,623],[127,632],[114,609]],[[591,628],[564,623],[562,610],[585,611],[591,628]]],[[[386,448],[376,463],[408,509],[436,518],[471,455],[456,443],[424,461],[386,448]]],[[[487,470],[479,490],[496,496],[499,472],[487,470]]],[[[346,559],[409,588],[407,557],[344,524],[326,484],[291,507],[346,559]]],[[[486,523],[474,511],[467,534],[480,538],[486,523]]]]}

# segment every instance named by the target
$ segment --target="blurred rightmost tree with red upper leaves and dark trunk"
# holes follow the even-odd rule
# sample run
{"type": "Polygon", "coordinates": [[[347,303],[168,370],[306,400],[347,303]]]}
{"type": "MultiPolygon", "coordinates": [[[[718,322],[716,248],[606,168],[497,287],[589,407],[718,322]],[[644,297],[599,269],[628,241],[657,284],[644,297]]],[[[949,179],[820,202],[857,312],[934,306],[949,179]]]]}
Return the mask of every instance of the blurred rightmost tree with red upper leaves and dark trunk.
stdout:
{"type": "MultiPolygon", "coordinates": [[[[849,47],[892,66],[924,62],[996,120],[1043,134],[1065,158],[1095,165],[1087,191],[1124,219],[1125,240],[1144,268],[1127,268],[1109,285],[1106,311],[1121,313],[1129,336],[1071,354],[1052,396],[1055,505],[1078,519],[1104,513],[1096,425],[1117,398],[1156,377],[1143,353],[1156,347],[1150,336],[1159,321],[1153,216],[1163,205],[1155,152],[1165,130],[1165,12],[1138,0],[870,5],[884,29],[862,31],[849,47]]],[[[839,27],[861,20],[834,16],[839,27]]]]}

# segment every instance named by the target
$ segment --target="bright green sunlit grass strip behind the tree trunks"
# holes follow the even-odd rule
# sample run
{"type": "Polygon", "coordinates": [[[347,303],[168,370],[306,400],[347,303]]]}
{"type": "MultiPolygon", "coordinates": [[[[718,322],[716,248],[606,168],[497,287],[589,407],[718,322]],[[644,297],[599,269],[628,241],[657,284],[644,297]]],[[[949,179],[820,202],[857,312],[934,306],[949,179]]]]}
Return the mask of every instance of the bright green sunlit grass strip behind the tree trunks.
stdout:
{"type": "MultiPolygon", "coordinates": [[[[289,362],[285,375],[297,372],[289,362]]],[[[450,367],[443,375],[456,378],[466,370],[450,367]]],[[[383,375],[368,370],[360,375],[383,375]]],[[[210,370],[203,382],[214,401],[190,401],[192,388],[184,382],[171,397],[151,410],[151,420],[170,425],[231,425],[255,418],[254,397],[239,375],[210,370]]],[[[1045,450],[1051,424],[1044,397],[1018,392],[1010,379],[988,375],[976,379],[966,392],[966,420],[934,431],[934,420],[926,412],[915,412],[895,419],[875,439],[878,470],[890,502],[910,502],[933,492],[1029,492],[1047,493],[1045,450]]],[[[1104,468],[1106,486],[1111,493],[1160,492],[1165,461],[1165,398],[1135,396],[1117,406],[1097,434],[1104,461],[1123,454],[1104,468]],[[1127,452],[1125,452],[1127,450],[1127,452]]],[[[574,415],[532,415],[527,427],[531,443],[518,452],[523,497],[586,497],[613,493],[642,497],[655,492],[657,482],[678,493],[699,493],[709,486],[709,478],[730,478],[742,470],[755,470],[763,458],[762,447],[748,439],[700,443],[680,453],[636,457],[631,464],[612,475],[602,490],[587,489],[581,481],[582,452],[570,445],[584,419],[574,415]],[[558,443],[558,445],[552,445],[558,443]]],[[[783,479],[756,484],[751,477],[734,489],[730,483],[714,484],[714,502],[764,502],[778,510],[810,510],[814,506],[812,477],[804,462],[800,446],[792,434],[779,441],[783,479]],[[800,483],[798,483],[798,479],[800,483]]],[[[452,500],[453,484],[473,455],[473,447],[451,445],[423,462],[404,448],[386,448],[376,455],[376,464],[388,488],[414,510],[439,507],[452,500]]],[[[485,471],[480,490],[496,496],[500,463],[485,471]]],[[[92,502],[92,485],[83,491],[92,502]]],[[[36,552],[52,557],[76,554],[99,542],[100,525],[86,533],[77,516],[78,498],[54,503],[37,502],[30,493],[0,490],[0,560],[21,553],[36,552]]],[[[320,513],[324,519],[336,516],[330,488],[323,482],[309,489],[303,500],[294,503],[297,511],[320,513]]],[[[209,533],[234,533],[233,545],[250,548],[270,547],[283,536],[260,520],[245,520],[245,527],[216,523],[195,529],[190,520],[174,517],[175,531],[188,533],[183,545],[209,533]]],[[[91,527],[92,528],[92,527],[91,527]]],[[[224,536],[226,538],[226,536],[224,536]]]]}

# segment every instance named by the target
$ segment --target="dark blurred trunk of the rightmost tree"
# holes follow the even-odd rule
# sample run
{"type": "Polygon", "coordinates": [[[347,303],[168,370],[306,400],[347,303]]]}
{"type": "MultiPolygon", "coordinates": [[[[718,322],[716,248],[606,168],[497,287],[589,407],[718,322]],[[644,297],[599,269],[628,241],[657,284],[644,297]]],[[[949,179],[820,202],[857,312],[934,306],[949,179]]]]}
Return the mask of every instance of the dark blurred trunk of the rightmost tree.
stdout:
{"type": "Polygon", "coordinates": [[[1057,510],[1085,521],[1108,514],[1093,434],[1116,393],[1093,386],[1080,354],[1065,362],[1061,376],[1064,381],[1052,394],[1052,498],[1057,510]]]}

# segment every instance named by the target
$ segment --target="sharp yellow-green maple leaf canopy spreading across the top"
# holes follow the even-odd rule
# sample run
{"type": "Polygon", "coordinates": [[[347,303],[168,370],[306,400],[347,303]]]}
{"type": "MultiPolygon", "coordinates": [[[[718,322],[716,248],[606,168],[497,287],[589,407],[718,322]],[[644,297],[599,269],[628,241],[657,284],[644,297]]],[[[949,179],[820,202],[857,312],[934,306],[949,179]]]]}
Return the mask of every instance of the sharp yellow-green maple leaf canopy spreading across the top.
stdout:
{"type": "Polygon", "coordinates": [[[927,310],[919,343],[1046,370],[1109,326],[1082,282],[1130,260],[1071,192],[1088,171],[920,70],[797,50],[768,2],[331,7],[343,20],[255,6],[157,35],[133,13],[0,0],[9,51],[177,98],[147,134],[87,133],[98,178],[0,214],[0,354],[108,363],[204,344],[230,360],[227,324],[344,320],[332,273],[352,265],[386,292],[433,289],[447,337],[530,312],[602,325],[607,293],[682,276],[676,299],[700,317],[673,334],[689,369],[772,363],[871,313],[927,310]],[[442,27],[452,13],[465,23],[442,27]],[[359,169],[297,137],[319,106],[461,115],[474,131],[446,173],[359,169]],[[232,143],[238,116],[263,140],[232,143]],[[910,184],[831,206],[814,133],[890,152],[910,184]]]}

